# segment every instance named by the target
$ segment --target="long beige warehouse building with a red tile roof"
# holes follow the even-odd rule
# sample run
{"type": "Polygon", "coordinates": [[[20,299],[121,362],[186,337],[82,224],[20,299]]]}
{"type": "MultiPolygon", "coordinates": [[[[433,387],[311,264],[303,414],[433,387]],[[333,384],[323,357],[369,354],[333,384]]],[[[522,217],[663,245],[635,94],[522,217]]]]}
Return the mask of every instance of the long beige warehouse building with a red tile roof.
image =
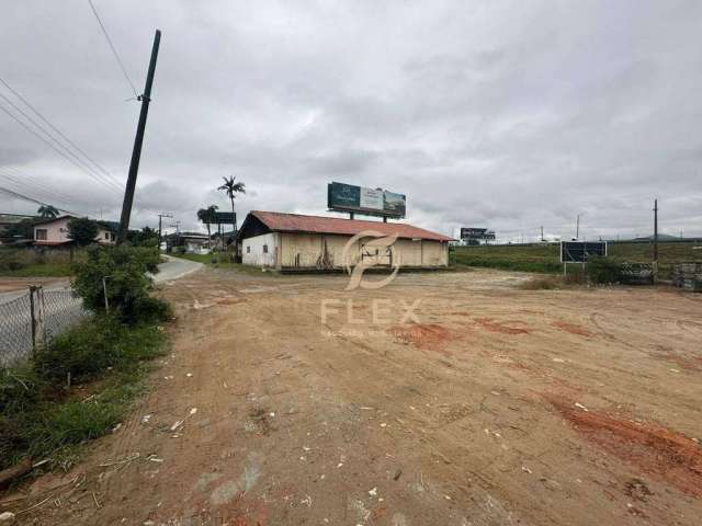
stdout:
{"type": "Polygon", "coordinates": [[[382,265],[438,268],[449,264],[452,238],[399,222],[363,221],[337,217],[251,211],[237,235],[238,253],[248,265],[279,270],[344,267],[343,250],[363,231],[397,236],[392,250],[354,240],[347,251],[351,266],[365,258],[382,265]]]}

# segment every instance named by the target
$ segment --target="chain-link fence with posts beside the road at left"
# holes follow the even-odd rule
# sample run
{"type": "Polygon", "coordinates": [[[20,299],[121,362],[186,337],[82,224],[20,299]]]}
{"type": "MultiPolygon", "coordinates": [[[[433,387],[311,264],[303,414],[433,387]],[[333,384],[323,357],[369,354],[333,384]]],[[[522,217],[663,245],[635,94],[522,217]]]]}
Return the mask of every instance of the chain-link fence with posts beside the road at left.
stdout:
{"type": "Polygon", "coordinates": [[[37,345],[84,319],[89,312],[70,290],[30,287],[0,304],[0,367],[32,356],[37,345]]]}

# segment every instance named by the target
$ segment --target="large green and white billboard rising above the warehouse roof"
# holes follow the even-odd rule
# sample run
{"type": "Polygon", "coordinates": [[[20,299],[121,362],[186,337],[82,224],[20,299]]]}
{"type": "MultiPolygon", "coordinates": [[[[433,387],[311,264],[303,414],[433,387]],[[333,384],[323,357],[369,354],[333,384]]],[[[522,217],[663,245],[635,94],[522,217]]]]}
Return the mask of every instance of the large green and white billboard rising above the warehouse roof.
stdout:
{"type": "Polygon", "coordinates": [[[407,198],[386,190],[332,182],[327,185],[327,206],[331,210],[401,218],[407,213],[407,198]]]}

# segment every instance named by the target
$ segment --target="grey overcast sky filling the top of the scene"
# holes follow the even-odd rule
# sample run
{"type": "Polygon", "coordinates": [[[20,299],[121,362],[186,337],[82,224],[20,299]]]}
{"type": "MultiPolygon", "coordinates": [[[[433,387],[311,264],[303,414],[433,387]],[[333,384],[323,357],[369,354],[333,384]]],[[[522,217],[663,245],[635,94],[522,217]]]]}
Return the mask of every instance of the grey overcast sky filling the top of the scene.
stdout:
{"type": "MultiPolygon", "coordinates": [[[[569,237],[578,213],[590,239],[647,235],[654,197],[663,232],[702,235],[700,1],[93,1],[139,92],[163,33],[133,227],[197,229],[236,175],[240,219],[326,215],[340,181],[449,235],[569,237]]],[[[2,2],[0,48],[0,78],[123,184],[139,104],[88,0],[2,2]]],[[[0,186],[118,219],[2,111],[0,137],[0,186]]]]}

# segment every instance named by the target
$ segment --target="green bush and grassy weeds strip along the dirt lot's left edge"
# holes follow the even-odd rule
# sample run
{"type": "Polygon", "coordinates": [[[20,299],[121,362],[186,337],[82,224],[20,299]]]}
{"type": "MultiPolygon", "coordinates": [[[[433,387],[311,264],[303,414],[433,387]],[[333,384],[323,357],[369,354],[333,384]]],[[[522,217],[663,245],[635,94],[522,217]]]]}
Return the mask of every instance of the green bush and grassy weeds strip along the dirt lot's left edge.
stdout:
{"type": "Polygon", "coordinates": [[[77,446],[109,432],[163,353],[170,307],[149,293],[159,254],[91,248],[75,264],[73,289],[93,318],[56,336],[24,364],[0,369],[0,469],[27,458],[68,469],[77,446]],[[109,312],[103,276],[110,276],[109,312]]]}

